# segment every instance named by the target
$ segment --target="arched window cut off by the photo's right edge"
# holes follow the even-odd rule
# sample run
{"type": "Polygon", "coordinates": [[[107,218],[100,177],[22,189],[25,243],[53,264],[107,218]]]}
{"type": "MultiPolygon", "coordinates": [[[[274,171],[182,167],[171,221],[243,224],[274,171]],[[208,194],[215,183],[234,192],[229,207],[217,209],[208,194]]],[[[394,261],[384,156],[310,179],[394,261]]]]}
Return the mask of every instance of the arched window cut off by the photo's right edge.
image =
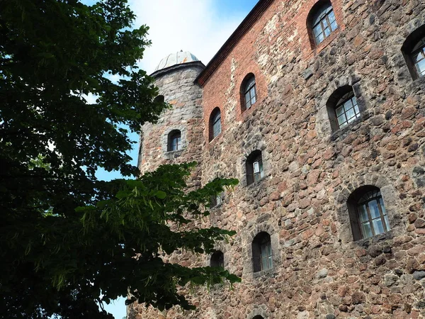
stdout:
{"type": "Polygon", "coordinates": [[[425,25],[407,37],[402,52],[413,79],[425,77],[425,25]]]}

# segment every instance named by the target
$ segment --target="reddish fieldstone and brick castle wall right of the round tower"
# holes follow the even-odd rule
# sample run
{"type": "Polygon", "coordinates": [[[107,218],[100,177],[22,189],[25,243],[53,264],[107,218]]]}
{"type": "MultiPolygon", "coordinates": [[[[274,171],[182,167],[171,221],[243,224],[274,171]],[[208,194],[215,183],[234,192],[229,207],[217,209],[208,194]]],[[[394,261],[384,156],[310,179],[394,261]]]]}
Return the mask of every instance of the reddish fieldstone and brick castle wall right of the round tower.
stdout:
{"type": "Polygon", "coordinates": [[[217,250],[242,283],[199,289],[198,310],[166,318],[425,318],[425,79],[412,79],[401,50],[425,24],[425,3],[331,1],[339,29],[312,48],[315,2],[273,1],[203,87],[201,184],[240,181],[206,226],[237,231],[217,250]],[[242,112],[250,72],[259,100],[242,112]],[[345,85],[361,116],[332,130],[327,101],[345,85]],[[217,106],[222,133],[209,142],[217,106]],[[254,150],[265,176],[246,185],[254,150]],[[347,200],[365,185],[380,189],[391,230],[355,241],[347,200]],[[271,235],[273,268],[254,272],[260,232],[271,235]]]}

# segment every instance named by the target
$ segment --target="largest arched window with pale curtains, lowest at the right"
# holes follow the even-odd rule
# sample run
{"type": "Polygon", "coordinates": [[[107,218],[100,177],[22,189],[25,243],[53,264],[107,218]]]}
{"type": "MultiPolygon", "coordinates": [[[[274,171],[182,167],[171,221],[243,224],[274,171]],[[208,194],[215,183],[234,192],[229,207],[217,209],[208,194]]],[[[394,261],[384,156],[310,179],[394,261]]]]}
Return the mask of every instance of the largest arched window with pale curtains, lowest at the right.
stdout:
{"type": "Polygon", "coordinates": [[[380,189],[362,186],[348,197],[348,213],[354,240],[369,238],[390,230],[380,189]]]}

